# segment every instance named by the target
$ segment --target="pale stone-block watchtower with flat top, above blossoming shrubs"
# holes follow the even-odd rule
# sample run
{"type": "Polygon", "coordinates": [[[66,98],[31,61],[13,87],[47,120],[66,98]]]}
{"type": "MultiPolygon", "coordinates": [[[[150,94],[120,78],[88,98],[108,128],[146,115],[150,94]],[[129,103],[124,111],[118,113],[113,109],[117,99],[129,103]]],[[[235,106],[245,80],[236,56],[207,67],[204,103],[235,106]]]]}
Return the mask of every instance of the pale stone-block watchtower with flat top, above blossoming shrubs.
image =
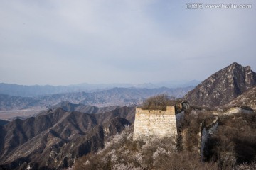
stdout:
{"type": "Polygon", "coordinates": [[[136,108],[133,140],[176,137],[178,135],[177,120],[184,115],[184,111],[177,114],[176,107],[167,106],[166,111],[136,108]]]}

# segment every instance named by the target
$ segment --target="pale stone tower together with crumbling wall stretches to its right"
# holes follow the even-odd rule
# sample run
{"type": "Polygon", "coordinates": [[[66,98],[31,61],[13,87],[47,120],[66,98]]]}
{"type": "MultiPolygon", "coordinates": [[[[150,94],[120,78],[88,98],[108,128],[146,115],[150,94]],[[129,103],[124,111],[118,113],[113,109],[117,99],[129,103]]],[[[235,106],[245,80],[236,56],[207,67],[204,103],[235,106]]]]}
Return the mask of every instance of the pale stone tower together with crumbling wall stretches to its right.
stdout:
{"type": "MultiPolygon", "coordinates": [[[[190,106],[186,102],[179,103],[175,106],[166,106],[165,111],[136,108],[133,140],[174,137],[174,140],[179,138],[182,142],[181,145],[186,147],[186,145],[183,144],[185,139],[185,136],[183,136],[184,133],[178,129],[182,126],[182,120],[185,118],[185,111],[188,108],[190,108],[190,106]]],[[[225,112],[213,111],[212,115],[214,120],[211,123],[206,124],[205,120],[203,120],[198,127],[198,147],[196,149],[198,154],[200,154],[201,161],[205,159],[206,143],[210,139],[210,136],[218,130],[219,116],[236,113],[250,114],[252,112],[253,111],[236,107],[230,108],[225,112]]]]}

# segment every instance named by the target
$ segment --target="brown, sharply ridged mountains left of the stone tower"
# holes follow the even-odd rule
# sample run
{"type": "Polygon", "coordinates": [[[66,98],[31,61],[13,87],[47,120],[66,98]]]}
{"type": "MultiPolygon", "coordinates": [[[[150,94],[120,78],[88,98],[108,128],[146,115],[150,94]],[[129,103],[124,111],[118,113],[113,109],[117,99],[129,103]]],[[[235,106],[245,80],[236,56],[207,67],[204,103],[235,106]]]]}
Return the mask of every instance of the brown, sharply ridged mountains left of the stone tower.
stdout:
{"type": "Polygon", "coordinates": [[[98,114],[62,108],[0,125],[0,169],[63,168],[104,147],[104,141],[134,121],[134,107],[98,114]]]}

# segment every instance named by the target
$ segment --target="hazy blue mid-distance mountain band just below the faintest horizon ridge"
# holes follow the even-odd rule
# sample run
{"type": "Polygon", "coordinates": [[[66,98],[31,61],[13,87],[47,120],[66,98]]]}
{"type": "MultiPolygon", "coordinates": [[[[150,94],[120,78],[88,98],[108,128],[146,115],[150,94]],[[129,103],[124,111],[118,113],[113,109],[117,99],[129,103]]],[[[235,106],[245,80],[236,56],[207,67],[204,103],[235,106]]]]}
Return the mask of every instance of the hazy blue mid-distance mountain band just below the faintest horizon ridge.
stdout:
{"type": "Polygon", "coordinates": [[[0,94],[0,111],[31,108],[36,106],[47,107],[63,101],[75,104],[93,106],[131,106],[142,102],[144,98],[157,94],[166,94],[176,98],[183,97],[193,86],[186,88],[159,88],[159,89],[136,89],[136,88],[114,88],[92,93],[76,92],[66,94],[52,94],[42,97],[22,98],[0,94]]]}

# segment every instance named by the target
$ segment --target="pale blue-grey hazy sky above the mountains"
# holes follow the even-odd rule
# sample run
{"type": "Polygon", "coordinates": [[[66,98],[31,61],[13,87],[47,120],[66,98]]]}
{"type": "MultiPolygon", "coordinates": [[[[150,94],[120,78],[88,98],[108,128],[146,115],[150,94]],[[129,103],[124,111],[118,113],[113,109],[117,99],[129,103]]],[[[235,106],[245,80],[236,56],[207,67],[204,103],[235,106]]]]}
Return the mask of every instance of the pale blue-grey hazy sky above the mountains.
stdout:
{"type": "Polygon", "coordinates": [[[254,0],[0,0],[0,21],[9,84],[203,80],[233,62],[256,72],[254,0]]]}

